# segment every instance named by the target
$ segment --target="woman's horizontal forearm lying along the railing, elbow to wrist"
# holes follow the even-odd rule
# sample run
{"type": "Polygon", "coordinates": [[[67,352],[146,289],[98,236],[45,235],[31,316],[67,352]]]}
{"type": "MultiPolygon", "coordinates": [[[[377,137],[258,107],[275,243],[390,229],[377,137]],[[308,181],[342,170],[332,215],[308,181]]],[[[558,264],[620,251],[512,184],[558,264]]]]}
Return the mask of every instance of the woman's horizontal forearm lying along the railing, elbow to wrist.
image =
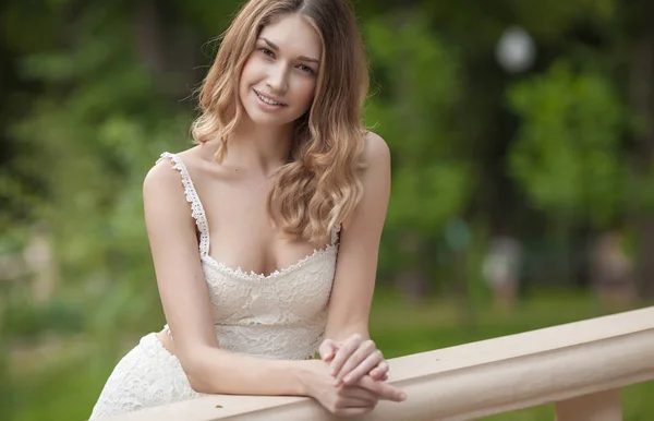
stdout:
{"type": "Polygon", "coordinates": [[[206,394],[307,396],[307,361],[267,360],[204,348],[183,364],[193,389],[206,394]]]}

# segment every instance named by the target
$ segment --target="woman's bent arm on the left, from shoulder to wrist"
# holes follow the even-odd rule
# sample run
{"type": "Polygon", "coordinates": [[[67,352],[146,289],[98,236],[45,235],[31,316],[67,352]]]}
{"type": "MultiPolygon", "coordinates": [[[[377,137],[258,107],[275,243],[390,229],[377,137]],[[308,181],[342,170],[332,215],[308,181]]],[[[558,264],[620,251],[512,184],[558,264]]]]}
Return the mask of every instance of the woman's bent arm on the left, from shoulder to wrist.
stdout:
{"type": "Polygon", "coordinates": [[[210,394],[304,395],[305,362],[264,360],[218,348],[195,221],[180,173],[168,160],[149,171],[143,196],[159,296],[191,386],[210,394]]]}

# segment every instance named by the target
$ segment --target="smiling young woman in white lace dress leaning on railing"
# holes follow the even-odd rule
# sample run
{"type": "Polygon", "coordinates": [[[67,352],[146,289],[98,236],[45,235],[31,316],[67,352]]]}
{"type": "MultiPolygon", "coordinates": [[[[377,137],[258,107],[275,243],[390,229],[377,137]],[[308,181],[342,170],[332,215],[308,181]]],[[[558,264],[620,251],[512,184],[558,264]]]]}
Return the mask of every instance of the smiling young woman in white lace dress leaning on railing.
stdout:
{"type": "Polygon", "coordinates": [[[363,129],[366,93],[346,0],[243,5],[197,145],[144,182],[168,324],[119,362],[92,419],[206,394],[303,395],[341,416],[405,398],[368,338],[390,157],[363,129]]]}

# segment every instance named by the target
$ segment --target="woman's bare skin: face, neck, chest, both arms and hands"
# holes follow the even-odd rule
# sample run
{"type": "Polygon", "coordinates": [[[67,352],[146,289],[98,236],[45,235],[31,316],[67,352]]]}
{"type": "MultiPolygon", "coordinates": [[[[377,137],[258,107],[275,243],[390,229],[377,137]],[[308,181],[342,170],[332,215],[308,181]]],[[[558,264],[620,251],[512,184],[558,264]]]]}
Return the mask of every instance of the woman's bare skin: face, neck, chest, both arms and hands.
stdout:
{"type": "MultiPolygon", "coordinates": [[[[293,121],[313,100],[320,55],[318,34],[305,19],[291,14],[275,20],[262,31],[242,72],[245,119],[225,160],[214,160],[218,145],[211,142],[179,154],[209,221],[209,255],[230,267],[267,275],[326,245],[284,238],[266,212],[274,172],[289,154],[293,121]],[[259,95],[282,105],[265,105],[259,95]]],[[[384,382],[388,364],[367,330],[390,191],[390,153],[382,137],[366,135],[362,160],[364,195],[341,226],[322,360],[305,361],[263,360],[218,347],[195,222],[179,173],[167,161],[149,171],[143,189],[145,219],[174,341],[164,332],[157,336],[179,358],[195,390],[310,396],[340,416],[366,413],[379,399],[405,398],[384,382]]]]}

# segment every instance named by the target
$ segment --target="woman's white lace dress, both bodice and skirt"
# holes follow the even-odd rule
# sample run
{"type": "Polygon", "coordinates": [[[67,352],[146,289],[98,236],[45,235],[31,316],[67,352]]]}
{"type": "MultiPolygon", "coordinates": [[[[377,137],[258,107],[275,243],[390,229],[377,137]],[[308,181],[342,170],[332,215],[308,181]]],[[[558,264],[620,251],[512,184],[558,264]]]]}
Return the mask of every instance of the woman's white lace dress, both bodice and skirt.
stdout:
{"type": "MultiPolygon", "coordinates": [[[[270,275],[228,267],[208,254],[207,218],[186,167],[173,154],[162,154],[157,163],[161,159],[169,159],[180,171],[186,200],[191,203],[220,348],[267,359],[312,358],[325,330],[338,253],[338,229],[325,249],[315,250],[294,265],[270,275]]],[[[178,358],[150,333],[113,369],[90,419],[201,396],[203,394],[191,388],[178,358]]]]}

